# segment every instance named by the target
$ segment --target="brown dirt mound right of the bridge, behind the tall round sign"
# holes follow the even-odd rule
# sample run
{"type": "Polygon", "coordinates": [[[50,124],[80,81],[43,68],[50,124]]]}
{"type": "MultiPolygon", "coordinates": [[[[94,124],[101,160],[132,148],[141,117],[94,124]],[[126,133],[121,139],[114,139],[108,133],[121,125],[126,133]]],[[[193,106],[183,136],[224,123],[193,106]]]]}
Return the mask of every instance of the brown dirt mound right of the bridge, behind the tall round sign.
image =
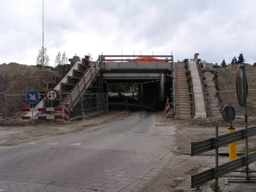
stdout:
{"type": "MultiPolygon", "coordinates": [[[[232,67],[220,68],[217,73],[217,84],[220,91],[236,90],[236,73],[238,64],[232,67]]],[[[256,89],[256,67],[246,64],[246,76],[248,81],[248,89],[256,89]]],[[[247,96],[247,112],[249,116],[256,114],[256,91],[248,91],[247,96]]],[[[220,93],[221,108],[225,105],[231,104],[236,109],[237,115],[244,114],[244,108],[240,107],[236,92],[222,92],[220,93]]]]}

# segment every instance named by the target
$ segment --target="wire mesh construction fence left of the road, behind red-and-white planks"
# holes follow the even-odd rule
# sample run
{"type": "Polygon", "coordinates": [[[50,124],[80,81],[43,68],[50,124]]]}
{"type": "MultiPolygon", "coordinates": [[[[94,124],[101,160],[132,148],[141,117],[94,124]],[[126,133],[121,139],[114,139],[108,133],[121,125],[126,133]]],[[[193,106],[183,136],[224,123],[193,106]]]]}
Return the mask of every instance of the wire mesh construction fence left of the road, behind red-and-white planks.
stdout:
{"type": "MultiPolygon", "coordinates": [[[[64,109],[64,104],[70,103],[70,98],[78,93],[59,93],[56,101],[48,101],[45,94],[39,94],[39,100],[36,103],[28,103],[25,94],[7,95],[0,93],[0,121],[9,118],[20,120],[22,116],[53,116],[63,115],[63,111],[29,111],[22,112],[23,108],[59,108],[64,109]]],[[[70,118],[77,118],[82,116],[84,110],[85,116],[100,114],[108,110],[108,93],[98,94],[79,94],[79,99],[70,111],[70,118]]]]}

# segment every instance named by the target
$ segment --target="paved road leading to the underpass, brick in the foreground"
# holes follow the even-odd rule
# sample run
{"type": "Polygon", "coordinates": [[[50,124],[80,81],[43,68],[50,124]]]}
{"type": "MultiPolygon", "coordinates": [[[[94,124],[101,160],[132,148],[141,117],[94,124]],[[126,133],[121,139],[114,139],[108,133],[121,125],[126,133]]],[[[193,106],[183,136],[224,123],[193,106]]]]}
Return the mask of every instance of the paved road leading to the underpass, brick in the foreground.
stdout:
{"type": "Polygon", "coordinates": [[[123,124],[122,130],[126,133],[130,129],[129,134],[120,133],[120,129],[115,134],[113,124],[109,124],[88,131],[91,133],[1,147],[0,190],[138,191],[172,156],[173,138],[166,133],[173,132],[174,127],[154,125],[155,115],[142,111],[130,115],[123,124]],[[133,127],[129,126],[129,118],[133,119],[133,127]],[[149,121],[151,126],[145,123],[143,134],[132,134],[138,130],[136,121],[140,132],[143,123],[139,121],[149,121]]]}

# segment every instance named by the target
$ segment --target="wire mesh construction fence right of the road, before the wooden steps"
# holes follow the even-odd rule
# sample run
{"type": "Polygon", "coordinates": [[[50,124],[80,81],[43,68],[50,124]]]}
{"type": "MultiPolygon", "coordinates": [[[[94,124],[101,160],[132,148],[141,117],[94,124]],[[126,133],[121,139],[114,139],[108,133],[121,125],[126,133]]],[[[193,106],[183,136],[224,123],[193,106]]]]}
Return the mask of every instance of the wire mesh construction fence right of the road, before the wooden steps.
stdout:
{"type": "MultiPolygon", "coordinates": [[[[256,90],[248,90],[248,120],[256,119],[256,90]],[[254,96],[255,97],[255,96],[254,96]]],[[[244,118],[244,108],[238,103],[236,91],[215,91],[205,93],[176,93],[173,109],[176,119],[222,120],[221,111],[231,104],[236,110],[236,120],[244,118]]]]}

